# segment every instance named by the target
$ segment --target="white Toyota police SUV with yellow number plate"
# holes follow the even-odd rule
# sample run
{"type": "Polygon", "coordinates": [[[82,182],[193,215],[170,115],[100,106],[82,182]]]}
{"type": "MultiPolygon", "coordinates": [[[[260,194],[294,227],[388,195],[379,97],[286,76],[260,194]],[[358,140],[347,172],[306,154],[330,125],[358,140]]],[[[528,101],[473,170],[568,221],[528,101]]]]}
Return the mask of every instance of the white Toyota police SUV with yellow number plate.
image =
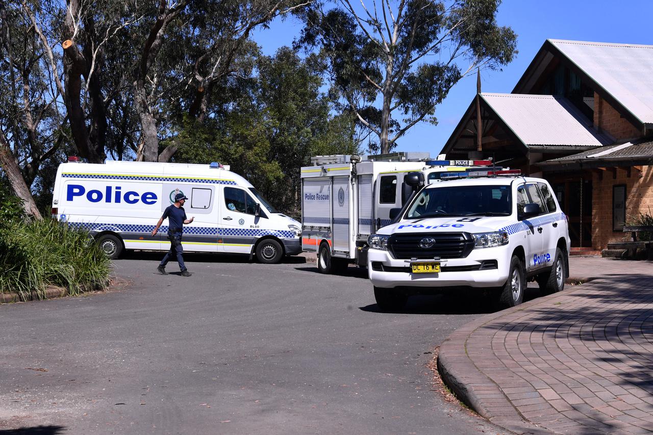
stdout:
{"type": "Polygon", "coordinates": [[[532,279],[545,293],[563,289],[567,218],[547,180],[515,172],[427,185],[395,209],[394,222],[368,238],[381,310],[402,308],[409,295],[459,289],[496,291],[502,306],[515,306],[532,279]]]}

